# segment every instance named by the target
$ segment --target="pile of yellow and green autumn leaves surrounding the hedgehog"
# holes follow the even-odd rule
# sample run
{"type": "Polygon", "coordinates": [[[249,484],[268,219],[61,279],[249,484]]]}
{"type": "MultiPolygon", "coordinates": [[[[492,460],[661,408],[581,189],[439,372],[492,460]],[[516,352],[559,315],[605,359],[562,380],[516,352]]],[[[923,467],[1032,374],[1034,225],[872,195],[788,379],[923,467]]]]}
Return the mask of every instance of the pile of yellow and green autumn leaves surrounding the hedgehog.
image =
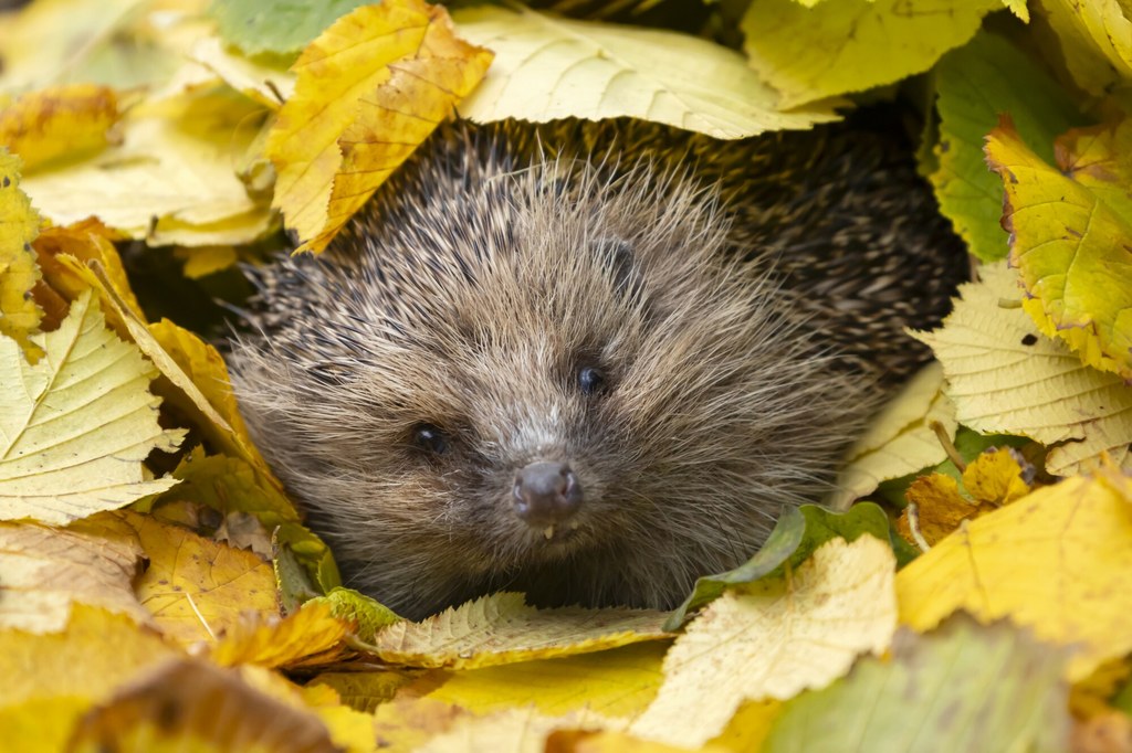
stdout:
{"type": "Polygon", "coordinates": [[[1127,3],[691,5],[0,11],[6,741],[1132,751],[1127,3]],[[829,507],[670,614],[496,594],[410,623],[343,588],[221,354],[147,313],[326,248],[457,111],[736,139],[911,95],[975,282],[829,507]]]}

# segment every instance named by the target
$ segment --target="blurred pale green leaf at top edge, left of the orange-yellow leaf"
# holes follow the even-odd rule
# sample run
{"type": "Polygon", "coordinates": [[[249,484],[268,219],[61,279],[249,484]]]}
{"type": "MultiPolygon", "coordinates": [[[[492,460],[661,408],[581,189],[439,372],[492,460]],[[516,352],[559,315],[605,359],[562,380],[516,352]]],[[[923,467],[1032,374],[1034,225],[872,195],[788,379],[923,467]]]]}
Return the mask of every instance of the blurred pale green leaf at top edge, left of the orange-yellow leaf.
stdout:
{"type": "Polygon", "coordinates": [[[291,55],[367,0],[215,0],[220,34],[249,55],[291,55]]]}

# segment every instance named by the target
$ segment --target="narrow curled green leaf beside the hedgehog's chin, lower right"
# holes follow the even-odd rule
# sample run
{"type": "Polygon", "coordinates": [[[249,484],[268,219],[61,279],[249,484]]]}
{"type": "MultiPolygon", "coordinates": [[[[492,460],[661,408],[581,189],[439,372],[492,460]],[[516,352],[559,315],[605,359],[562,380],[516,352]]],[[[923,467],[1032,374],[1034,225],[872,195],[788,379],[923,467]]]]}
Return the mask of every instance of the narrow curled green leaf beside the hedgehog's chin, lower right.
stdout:
{"type": "Polygon", "coordinates": [[[689,613],[719,597],[729,586],[777,575],[787,566],[797,568],[831,538],[854,542],[861,534],[892,542],[887,516],[872,502],[856,504],[847,512],[832,512],[816,504],[790,508],[751,560],[735,570],[696,580],[692,595],[669,615],[664,630],[677,630],[689,613]]]}

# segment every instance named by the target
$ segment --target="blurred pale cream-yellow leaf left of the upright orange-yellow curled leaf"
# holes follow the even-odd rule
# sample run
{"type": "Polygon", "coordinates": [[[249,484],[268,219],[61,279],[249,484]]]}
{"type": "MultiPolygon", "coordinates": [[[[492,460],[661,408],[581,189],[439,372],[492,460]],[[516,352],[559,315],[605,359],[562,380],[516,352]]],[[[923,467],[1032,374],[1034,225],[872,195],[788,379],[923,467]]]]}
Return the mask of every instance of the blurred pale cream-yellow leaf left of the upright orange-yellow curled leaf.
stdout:
{"type": "Polygon", "coordinates": [[[264,112],[226,92],[135,107],[120,121],[121,145],[26,178],[24,190],[58,225],[94,216],[154,244],[254,241],[269,227],[269,211],[248,196],[233,165],[255,139],[264,112]],[[249,223],[249,216],[257,222],[249,223]],[[185,226],[209,228],[237,218],[245,218],[239,225],[243,237],[177,235],[185,226]]]}

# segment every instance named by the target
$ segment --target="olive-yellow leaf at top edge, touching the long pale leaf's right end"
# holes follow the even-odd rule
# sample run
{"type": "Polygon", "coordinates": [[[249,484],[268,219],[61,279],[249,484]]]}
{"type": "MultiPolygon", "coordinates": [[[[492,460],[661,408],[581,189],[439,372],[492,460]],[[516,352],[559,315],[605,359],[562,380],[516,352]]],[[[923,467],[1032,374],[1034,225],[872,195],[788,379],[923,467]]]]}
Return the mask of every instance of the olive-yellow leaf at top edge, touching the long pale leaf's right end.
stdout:
{"type": "Polygon", "coordinates": [[[783,110],[891,84],[967,42],[998,0],[754,0],[741,29],[751,66],[783,110]]]}

